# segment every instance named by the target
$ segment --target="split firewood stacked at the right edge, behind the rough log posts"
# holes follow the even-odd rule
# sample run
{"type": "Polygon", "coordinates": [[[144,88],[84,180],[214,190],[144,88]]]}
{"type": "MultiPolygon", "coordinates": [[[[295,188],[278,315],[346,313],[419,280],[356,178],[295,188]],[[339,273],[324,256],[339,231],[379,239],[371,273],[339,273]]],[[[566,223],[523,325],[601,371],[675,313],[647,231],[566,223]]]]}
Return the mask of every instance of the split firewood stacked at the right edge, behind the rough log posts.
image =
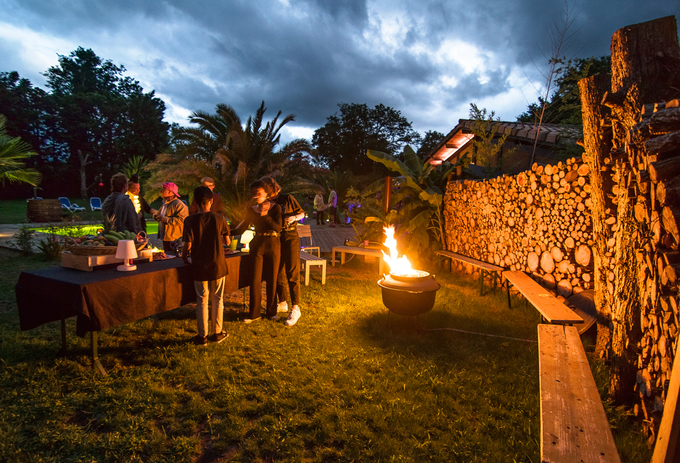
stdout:
{"type": "MultiPolygon", "coordinates": [[[[634,217],[641,295],[638,410],[646,419],[663,409],[680,320],[680,107],[678,100],[649,104],[629,130],[614,175],[618,189],[635,194],[634,217]]],[[[613,156],[615,157],[615,156],[613,156]]]]}

